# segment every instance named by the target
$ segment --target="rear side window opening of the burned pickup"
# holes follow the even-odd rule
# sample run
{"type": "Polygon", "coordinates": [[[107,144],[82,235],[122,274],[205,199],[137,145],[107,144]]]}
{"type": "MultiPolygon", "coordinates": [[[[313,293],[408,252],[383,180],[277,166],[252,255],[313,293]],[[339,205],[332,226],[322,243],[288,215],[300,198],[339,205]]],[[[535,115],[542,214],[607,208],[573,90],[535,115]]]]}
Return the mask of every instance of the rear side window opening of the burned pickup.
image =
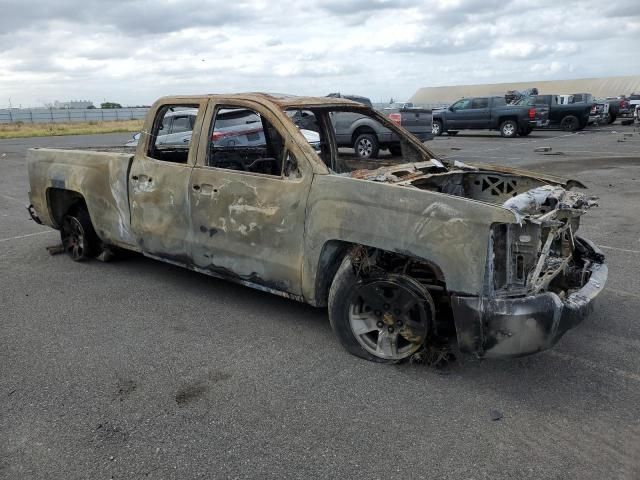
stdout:
{"type": "Polygon", "coordinates": [[[198,105],[166,105],[153,122],[147,155],[156,160],[187,163],[198,105]]]}

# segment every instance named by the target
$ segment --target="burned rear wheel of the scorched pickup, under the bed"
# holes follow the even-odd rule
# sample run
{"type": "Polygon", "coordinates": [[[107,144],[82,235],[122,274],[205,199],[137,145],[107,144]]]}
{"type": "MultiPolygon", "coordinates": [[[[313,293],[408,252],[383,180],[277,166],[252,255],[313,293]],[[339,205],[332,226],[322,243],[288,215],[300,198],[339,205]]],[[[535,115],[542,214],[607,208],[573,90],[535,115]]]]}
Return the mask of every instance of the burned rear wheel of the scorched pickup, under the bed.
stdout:
{"type": "Polygon", "coordinates": [[[100,240],[91,224],[89,212],[84,207],[78,207],[62,217],[60,240],[64,251],[75,262],[100,253],[100,240]]]}

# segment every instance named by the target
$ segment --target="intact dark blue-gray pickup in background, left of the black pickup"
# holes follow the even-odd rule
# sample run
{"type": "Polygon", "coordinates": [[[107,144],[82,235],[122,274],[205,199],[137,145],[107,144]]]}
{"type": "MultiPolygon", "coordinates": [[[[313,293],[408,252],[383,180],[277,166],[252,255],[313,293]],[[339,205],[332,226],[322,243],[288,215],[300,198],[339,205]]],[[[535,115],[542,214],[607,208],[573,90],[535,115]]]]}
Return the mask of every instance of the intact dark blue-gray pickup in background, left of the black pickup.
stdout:
{"type": "Polygon", "coordinates": [[[503,137],[529,135],[547,121],[547,109],[507,105],[504,97],[463,98],[433,112],[434,135],[459,130],[499,130],[503,137]]]}

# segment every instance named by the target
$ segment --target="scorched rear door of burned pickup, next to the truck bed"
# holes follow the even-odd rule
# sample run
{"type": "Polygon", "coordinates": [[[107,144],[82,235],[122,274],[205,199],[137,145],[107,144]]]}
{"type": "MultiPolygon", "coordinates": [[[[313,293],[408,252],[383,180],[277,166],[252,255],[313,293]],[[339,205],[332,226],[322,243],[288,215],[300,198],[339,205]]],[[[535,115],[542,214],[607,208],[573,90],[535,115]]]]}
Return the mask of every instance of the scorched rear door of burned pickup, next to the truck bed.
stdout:
{"type": "Polygon", "coordinates": [[[189,263],[189,178],[205,107],[206,102],[200,105],[199,101],[165,105],[158,109],[151,133],[140,139],[145,147],[136,154],[129,172],[129,202],[131,228],[145,254],[189,263]],[[195,115],[193,134],[186,142],[164,142],[167,120],[181,111],[195,115]]]}

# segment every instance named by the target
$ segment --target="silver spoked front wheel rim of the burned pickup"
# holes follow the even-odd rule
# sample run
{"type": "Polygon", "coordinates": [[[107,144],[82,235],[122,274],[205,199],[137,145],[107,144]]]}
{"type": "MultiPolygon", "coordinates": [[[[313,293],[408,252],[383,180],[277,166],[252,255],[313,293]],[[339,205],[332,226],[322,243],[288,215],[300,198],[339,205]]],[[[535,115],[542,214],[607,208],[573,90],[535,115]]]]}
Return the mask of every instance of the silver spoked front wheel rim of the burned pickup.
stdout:
{"type": "Polygon", "coordinates": [[[349,325],[370,354],[402,360],[424,343],[429,316],[424,299],[409,285],[378,280],[356,287],[349,304],[349,325]]]}

